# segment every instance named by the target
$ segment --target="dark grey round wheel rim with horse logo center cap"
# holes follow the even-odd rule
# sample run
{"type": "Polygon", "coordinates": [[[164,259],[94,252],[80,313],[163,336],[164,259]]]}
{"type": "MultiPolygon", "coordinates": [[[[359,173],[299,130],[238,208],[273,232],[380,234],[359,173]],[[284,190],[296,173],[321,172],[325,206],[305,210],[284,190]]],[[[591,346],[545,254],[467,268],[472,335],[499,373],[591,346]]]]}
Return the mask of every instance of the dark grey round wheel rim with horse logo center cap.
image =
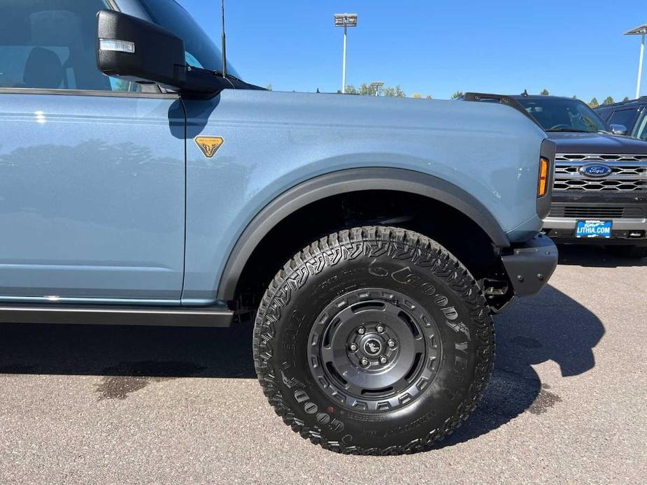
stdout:
{"type": "Polygon", "coordinates": [[[382,288],[335,298],[308,340],[322,391],[356,411],[403,407],[432,383],[441,362],[436,322],[413,298],[382,288]]]}

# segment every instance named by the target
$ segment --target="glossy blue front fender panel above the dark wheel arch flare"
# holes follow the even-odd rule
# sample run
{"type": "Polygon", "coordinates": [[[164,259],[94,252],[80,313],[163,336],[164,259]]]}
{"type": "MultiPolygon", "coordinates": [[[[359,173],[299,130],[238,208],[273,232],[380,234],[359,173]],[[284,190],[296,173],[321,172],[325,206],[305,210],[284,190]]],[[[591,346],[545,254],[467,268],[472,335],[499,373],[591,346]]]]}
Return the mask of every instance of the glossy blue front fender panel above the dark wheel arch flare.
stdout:
{"type": "Polygon", "coordinates": [[[273,198],[347,168],[435,175],[481,201],[511,240],[541,229],[534,194],[546,133],[509,107],[230,89],[184,103],[185,304],[213,301],[236,240],[273,198]],[[195,136],[225,143],[206,159],[195,136]]]}

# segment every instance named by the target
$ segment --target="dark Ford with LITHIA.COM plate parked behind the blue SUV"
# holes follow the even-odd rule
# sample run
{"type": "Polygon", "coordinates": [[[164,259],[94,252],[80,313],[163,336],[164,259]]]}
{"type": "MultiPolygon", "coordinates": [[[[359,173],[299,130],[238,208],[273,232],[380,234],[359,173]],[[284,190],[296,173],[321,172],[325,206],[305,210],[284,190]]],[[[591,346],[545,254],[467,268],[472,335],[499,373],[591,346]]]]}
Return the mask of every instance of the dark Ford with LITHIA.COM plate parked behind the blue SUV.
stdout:
{"type": "MultiPolygon", "coordinates": [[[[557,145],[546,233],[556,243],[602,244],[620,256],[646,257],[647,142],[620,136],[627,132],[621,122],[631,121],[625,108],[613,110],[618,117],[609,125],[577,99],[511,97],[557,145]]],[[[644,129],[644,108],[627,109],[644,129]]]]}

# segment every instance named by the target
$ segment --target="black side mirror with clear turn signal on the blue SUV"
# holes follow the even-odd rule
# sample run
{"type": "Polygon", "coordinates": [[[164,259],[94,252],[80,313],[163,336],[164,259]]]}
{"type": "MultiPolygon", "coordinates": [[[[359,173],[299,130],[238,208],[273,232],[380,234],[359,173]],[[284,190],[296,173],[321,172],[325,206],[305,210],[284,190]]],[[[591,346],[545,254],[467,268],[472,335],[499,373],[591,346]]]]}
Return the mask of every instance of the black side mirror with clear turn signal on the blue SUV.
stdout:
{"type": "Polygon", "coordinates": [[[181,38],[115,10],[97,14],[97,66],[114,78],[156,83],[181,94],[208,96],[231,86],[213,71],[187,66],[181,38]]]}

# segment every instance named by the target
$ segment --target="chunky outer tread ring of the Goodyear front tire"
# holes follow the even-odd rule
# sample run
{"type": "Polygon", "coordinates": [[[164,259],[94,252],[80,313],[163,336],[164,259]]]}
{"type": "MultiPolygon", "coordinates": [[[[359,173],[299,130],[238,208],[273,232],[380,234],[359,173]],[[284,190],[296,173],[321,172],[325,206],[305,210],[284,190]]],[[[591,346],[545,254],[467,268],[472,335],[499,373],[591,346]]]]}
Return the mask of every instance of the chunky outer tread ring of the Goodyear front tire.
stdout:
{"type": "MultiPolygon", "coordinates": [[[[301,285],[297,284],[297,287],[294,287],[292,291],[298,289],[301,285]]],[[[283,296],[278,296],[278,298],[283,298],[283,296]]],[[[320,238],[320,240],[301,249],[278,271],[259,305],[254,326],[253,352],[255,368],[264,395],[273,407],[274,412],[301,437],[310,440],[313,444],[319,444],[324,449],[336,451],[337,453],[399,455],[431,449],[436,442],[450,435],[469,417],[469,414],[476,408],[478,401],[483,397],[483,392],[492,374],[495,357],[495,333],[488,305],[485,303],[481,289],[467,268],[447,249],[426,236],[406,229],[390,226],[363,226],[339,231],[320,238]],[[392,257],[413,258],[413,263],[420,266],[429,266],[436,277],[445,280],[460,295],[463,303],[469,307],[471,319],[478,328],[476,335],[478,339],[476,352],[478,361],[476,362],[475,378],[471,383],[467,397],[457,406],[453,416],[446,419],[441,428],[432,430],[424,438],[417,438],[404,445],[385,448],[348,446],[339,441],[327,440],[320,433],[320,430],[309,427],[304,421],[296,417],[285,403],[278,387],[280,377],[277,377],[270,363],[272,356],[271,340],[274,335],[273,322],[278,320],[277,314],[280,316],[280,305],[273,302],[276,302],[278,293],[283,291],[282,289],[285,288],[286,282],[288,287],[291,286],[290,282],[298,282],[299,279],[301,280],[301,285],[304,284],[308,275],[306,270],[308,261],[313,261],[320,254],[330,252],[336,247],[367,241],[387,245],[388,249],[390,248],[392,251],[392,257]],[[397,243],[397,246],[392,243],[397,243]],[[396,254],[398,248],[403,249],[396,254]],[[427,255],[430,257],[425,257],[427,255]],[[300,278],[294,280],[292,277],[299,273],[301,273],[300,278]]]]}

